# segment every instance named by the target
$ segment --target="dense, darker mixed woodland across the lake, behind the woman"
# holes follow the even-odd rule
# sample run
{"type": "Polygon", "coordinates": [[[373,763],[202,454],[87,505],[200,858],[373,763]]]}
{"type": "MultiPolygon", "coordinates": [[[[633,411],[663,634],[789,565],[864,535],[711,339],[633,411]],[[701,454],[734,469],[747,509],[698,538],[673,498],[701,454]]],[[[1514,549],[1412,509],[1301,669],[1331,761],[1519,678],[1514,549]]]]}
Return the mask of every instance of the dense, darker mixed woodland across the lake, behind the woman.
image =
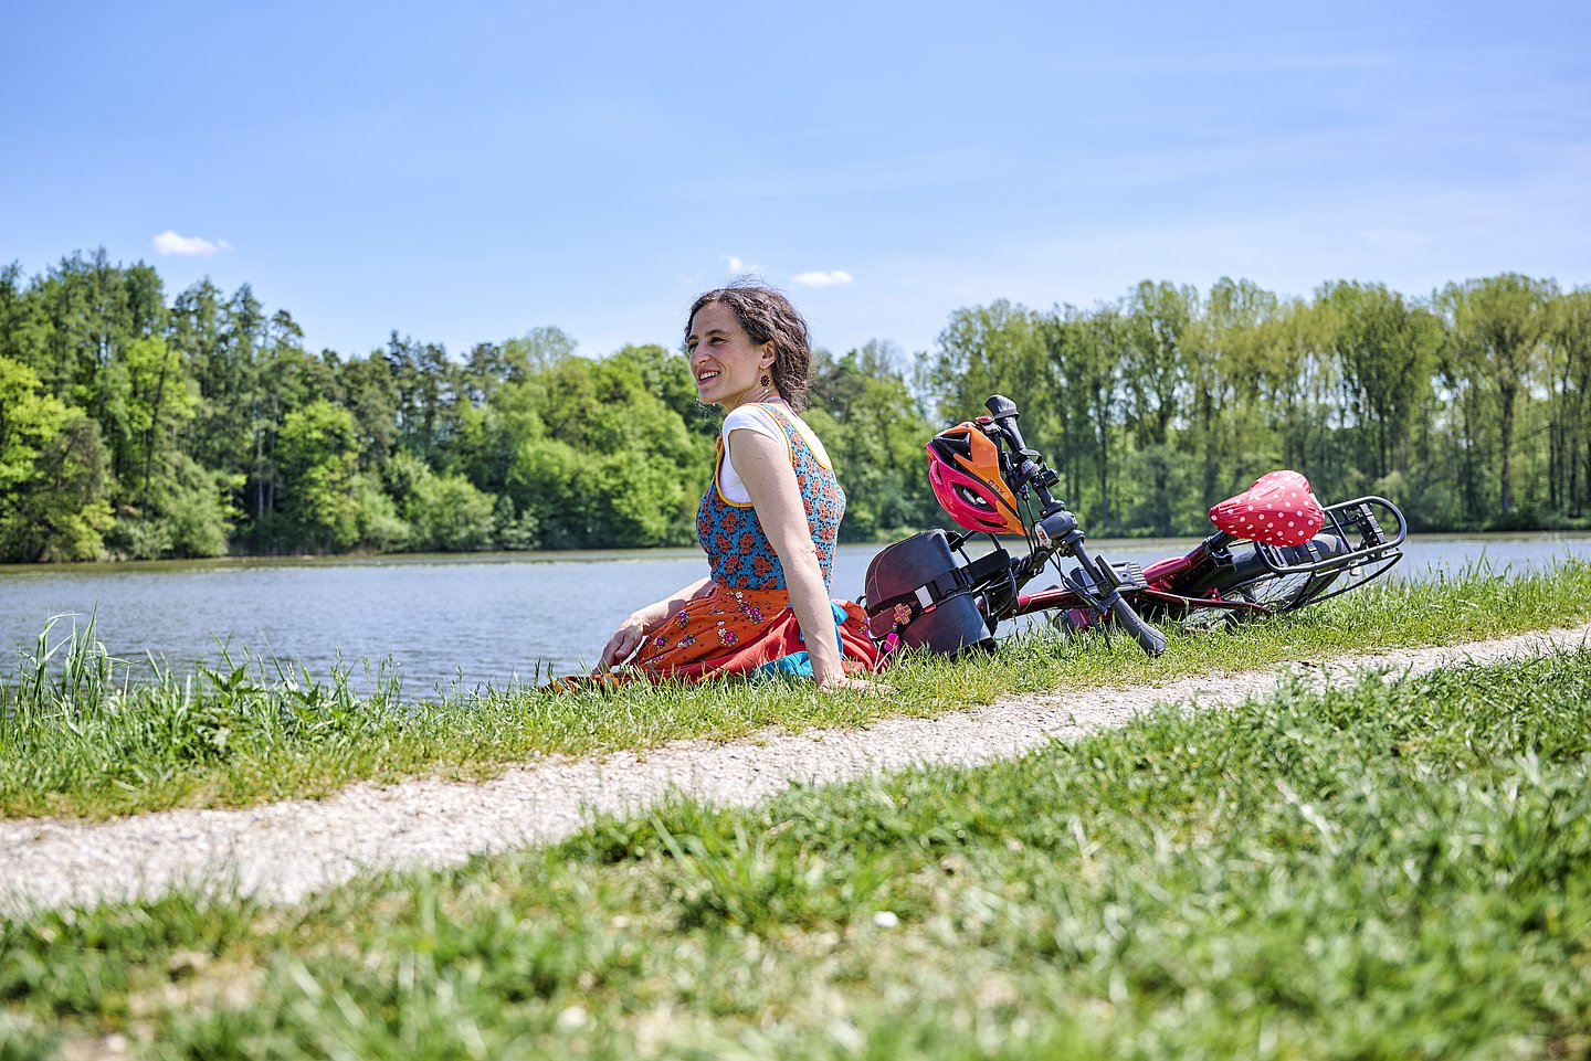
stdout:
{"type": "MultiPolygon", "coordinates": [[[[856,536],[932,507],[893,356],[815,366],[856,536]]],[[[103,250],[0,270],[3,562],[686,544],[718,423],[678,348],[584,358],[536,328],[310,353],[248,285],[167,302],[103,250]]]]}

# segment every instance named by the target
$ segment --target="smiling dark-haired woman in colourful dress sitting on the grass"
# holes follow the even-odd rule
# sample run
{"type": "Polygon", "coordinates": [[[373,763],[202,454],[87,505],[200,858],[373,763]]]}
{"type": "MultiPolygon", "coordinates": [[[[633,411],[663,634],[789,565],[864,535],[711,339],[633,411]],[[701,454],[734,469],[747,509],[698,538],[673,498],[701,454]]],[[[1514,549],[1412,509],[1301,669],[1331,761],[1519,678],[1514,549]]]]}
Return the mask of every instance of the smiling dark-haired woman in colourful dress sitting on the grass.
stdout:
{"type": "Polygon", "coordinates": [[[808,674],[824,690],[869,687],[878,651],[866,616],[829,600],[845,493],[797,415],[811,367],[807,321],[764,286],[708,291],[686,350],[697,398],[727,415],[697,511],[711,574],[630,614],[593,673],[702,681],[808,674]]]}

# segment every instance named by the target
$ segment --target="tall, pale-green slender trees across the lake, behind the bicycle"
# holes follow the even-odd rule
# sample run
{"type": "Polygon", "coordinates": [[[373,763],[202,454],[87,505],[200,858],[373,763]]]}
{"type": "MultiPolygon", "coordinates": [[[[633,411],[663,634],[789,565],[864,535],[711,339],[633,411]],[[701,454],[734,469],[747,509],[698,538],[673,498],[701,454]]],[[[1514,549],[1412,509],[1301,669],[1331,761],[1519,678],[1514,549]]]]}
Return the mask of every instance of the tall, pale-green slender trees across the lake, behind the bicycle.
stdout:
{"type": "Polygon", "coordinates": [[[1282,299],[1139,283],[1082,310],[951,315],[924,361],[940,412],[1026,396],[1096,530],[1192,534],[1274,468],[1322,499],[1392,498],[1416,530],[1586,527],[1591,290],[1503,274],[1414,299],[1335,282],[1282,299]]]}

